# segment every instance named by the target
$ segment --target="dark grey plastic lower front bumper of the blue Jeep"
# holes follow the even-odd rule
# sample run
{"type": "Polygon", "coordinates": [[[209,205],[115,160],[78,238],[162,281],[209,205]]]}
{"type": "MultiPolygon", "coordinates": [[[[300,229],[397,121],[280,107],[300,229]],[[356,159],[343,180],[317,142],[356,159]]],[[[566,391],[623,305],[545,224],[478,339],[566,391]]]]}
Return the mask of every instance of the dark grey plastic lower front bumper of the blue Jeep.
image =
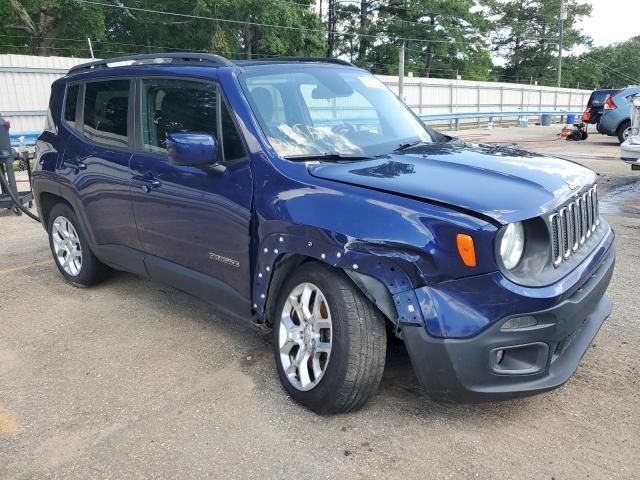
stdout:
{"type": "Polygon", "coordinates": [[[403,327],[419,380],[436,398],[469,402],[533,395],[559,387],[575,372],[611,313],[612,302],[605,291],[614,263],[611,245],[589,279],[571,296],[544,310],[513,315],[535,317],[536,326],[504,330],[511,318],[506,317],[470,338],[437,338],[424,326],[403,327]]]}

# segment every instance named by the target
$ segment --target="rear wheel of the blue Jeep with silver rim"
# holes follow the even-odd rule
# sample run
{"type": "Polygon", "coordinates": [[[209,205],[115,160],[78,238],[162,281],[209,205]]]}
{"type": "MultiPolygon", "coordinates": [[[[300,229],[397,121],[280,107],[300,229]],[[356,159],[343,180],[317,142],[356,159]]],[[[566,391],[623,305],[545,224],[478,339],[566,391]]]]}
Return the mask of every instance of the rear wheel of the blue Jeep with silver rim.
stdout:
{"type": "Polygon", "coordinates": [[[76,287],[104,280],[109,267],[96,258],[73,209],[66,203],[53,206],[47,223],[49,247],[62,276],[76,287]]]}

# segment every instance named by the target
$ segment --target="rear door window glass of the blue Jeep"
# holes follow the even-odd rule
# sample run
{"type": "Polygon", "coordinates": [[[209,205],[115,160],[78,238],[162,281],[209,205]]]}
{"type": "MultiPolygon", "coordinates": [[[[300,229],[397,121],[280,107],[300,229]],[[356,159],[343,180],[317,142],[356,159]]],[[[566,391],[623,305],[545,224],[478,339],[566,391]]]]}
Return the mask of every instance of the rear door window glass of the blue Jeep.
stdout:
{"type": "Polygon", "coordinates": [[[87,82],[84,94],[85,137],[94,142],[127,147],[129,80],[87,82]]]}

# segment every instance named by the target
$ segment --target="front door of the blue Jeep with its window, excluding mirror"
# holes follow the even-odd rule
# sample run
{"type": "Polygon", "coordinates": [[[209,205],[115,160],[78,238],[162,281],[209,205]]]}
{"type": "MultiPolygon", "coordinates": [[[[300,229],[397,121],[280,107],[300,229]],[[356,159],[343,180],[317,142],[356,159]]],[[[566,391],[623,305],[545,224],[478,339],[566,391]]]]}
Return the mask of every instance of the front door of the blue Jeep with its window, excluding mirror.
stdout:
{"type": "Polygon", "coordinates": [[[142,248],[220,280],[249,301],[253,181],[246,147],[222,95],[213,82],[138,82],[142,152],[131,159],[131,192],[142,248]],[[166,135],[189,131],[218,139],[226,169],[169,161],[166,135]]]}

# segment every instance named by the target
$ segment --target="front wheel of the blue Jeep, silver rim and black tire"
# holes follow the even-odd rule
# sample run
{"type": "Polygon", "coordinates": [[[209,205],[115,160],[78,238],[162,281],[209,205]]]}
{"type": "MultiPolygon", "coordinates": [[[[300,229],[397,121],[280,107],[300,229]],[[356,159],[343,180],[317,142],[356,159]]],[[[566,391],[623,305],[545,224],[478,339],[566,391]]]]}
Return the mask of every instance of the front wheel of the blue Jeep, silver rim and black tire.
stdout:
{"type": "Polygon", "coordinates": [[[362,407],[377,392],[386,357],[382,314],[341,271],[303,264],[278,298],[278,374],[298,403],[319,414],[362,407]]]}

